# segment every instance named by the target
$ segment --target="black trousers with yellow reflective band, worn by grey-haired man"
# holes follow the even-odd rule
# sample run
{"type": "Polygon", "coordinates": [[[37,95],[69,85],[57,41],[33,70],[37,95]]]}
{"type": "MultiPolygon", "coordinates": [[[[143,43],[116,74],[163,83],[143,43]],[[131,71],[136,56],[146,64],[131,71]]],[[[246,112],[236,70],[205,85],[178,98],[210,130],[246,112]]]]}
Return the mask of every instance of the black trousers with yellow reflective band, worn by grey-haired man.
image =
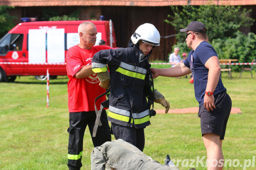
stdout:
{"type": "MultiPolygon", "coordinates": [[[[102,125],[98,127],[95,137],[93,128],[96,120],[95,111],[71,112],[69,113],[69,145],[68,145],[68,167],[69,169],[80,169],[82,167],[82,151],[85,128],[88,125],[94,147],[100,146],[106,141],[111,141],[110,128],[106,111],[101,113],[102,125]]],[[[93,148],[92,148],[93,150],[93,148]]]]}

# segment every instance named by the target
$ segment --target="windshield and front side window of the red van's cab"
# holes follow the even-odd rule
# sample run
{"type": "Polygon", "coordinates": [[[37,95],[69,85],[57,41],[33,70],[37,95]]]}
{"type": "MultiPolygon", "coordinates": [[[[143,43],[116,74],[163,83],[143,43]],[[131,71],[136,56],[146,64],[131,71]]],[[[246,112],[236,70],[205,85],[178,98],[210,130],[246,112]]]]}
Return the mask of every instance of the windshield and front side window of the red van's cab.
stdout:
{"type": "Polygon", "coordinates": [[[0,40],[0,55],[5,55],[8,51],[22,50],[23,34],[6,34],[0,40]]]}

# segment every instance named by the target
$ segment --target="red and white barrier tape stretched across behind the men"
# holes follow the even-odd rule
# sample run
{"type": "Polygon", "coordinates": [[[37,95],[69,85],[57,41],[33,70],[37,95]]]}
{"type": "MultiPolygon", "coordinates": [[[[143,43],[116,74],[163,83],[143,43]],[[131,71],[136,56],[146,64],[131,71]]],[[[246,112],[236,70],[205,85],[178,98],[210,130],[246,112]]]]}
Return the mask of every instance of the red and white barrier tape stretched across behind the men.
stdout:
{"type": "MultiPolygon", "coordinates": [[[[0,64],[21,64],[21,65],[66,65],[66,63],[27,63],[27,62],[0,62],[0,64]]],[[[150,63],[155,65],[173,65],[170,63],[150,63]]],[[[176,63],[174,65],[179,65],[176,63]]],[[[256,65],[256,63],[219,63],[219,65],[256,65]]]]}

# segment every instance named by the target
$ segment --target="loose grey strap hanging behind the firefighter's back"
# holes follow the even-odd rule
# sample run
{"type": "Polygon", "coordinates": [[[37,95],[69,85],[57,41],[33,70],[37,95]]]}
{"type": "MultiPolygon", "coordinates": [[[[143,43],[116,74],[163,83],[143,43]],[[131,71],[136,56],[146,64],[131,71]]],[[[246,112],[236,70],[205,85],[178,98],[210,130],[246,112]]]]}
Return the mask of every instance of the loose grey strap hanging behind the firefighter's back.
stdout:
{"type": "Polygon", "coordinates": [[[96,99],[95,99],[95,102],[94,102],[94,109],[95,109],[95,113],[96,113],[96,120],[95,120],[95,123],[94,123],[94,128],[93,128],[93,137],[96,136],[96,133],[97,133],[97,129],[98,129],[98,126],[101,126],[101,121],[100,121],[100,116],[101,116],[101,112],[104,108],[107,108],[109,107],[109,100],[105,100],[104,102],[102,102],[100,104],[100,110],[98,111],[97,107],[96,107],[96,101],[101,98],[102,96],[105,96],[106,94],[108,94],[110,92],[110,87],[108,88],[108,90],[106,90],[106,92],[104,92],[103,94],[101,94],[100,96],[98,96],[96,99]]]}

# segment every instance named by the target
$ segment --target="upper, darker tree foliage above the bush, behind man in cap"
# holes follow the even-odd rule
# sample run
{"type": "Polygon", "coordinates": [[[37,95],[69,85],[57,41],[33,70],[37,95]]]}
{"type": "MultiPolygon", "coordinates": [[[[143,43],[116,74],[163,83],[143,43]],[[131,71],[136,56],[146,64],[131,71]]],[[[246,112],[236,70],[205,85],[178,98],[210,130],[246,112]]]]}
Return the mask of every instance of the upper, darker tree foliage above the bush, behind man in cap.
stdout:
{"type": "Polygon", "coordinates": [[[241,27],[250,27],[254,21],[248,15],[251,10],[241,9],[241,6],[187,5],[182,8],[171,6],[171,9],[174,15],[168,15],[171,21],[165,21],[177,31],[178,42],[185,40],[184,33],[180,33],[180,29],[186,28],[191,21],[205,24],[210,41],[222,37],[234,37],[237,30],[241,27]]]}

